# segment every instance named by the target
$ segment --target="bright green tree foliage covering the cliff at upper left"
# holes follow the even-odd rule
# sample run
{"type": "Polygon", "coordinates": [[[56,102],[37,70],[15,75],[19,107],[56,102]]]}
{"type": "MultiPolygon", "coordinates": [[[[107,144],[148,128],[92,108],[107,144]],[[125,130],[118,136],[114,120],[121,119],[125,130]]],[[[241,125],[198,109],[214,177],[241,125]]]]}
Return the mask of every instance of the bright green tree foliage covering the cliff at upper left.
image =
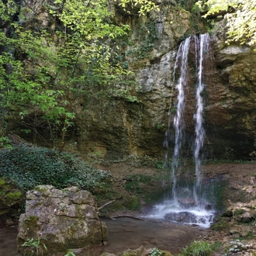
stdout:
{"type": "MultiPolygon", "coordinates": [[[[0,2],[2,16],[9,14],[11,2],[0,2]]],[[[24,19],[12,24],[12,35],[0,33],[5,49],[0,56],[0,125],[4,136],[17,126],[36,135],[48,130],[54,147],[62,150],[81,104],[97,97],[95,92],[108,95],[106,88],[129,73],[119,62],[112,65],[109,40],[125,35],[128,26],[114,24],[106,0],[24,2],[20,9],[24,19]],[[35,29],[29,19],[36,20],[45,9],[48,20],[57,21],[54,27],[35,29]]]]}

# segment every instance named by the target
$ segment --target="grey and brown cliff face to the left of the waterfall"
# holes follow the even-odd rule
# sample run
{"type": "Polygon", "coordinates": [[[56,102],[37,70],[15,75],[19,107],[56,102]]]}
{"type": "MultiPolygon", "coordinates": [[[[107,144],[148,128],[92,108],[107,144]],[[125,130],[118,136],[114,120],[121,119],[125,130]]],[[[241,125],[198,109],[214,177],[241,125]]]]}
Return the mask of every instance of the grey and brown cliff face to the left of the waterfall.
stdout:
{"type": "Polygon", "coordinates": [[[137,100],[92,102],[78,120],[78,150],[106,158],[163,156],[177,42],[189,30],[189,18],[182,9],[163,16],[127,18],[132,31],[125,59],[135,73],[136,85],[129,91],[137,100]]]}

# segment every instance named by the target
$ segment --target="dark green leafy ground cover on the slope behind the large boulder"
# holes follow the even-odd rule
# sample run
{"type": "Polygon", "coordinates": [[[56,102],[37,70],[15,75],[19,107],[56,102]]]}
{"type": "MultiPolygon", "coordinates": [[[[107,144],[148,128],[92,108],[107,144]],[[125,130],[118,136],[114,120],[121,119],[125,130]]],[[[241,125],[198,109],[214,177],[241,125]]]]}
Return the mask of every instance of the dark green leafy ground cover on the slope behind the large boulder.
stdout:
{"type": "Polygon", "coordinates": [[[17,147],[0,153],[0,175],[11,178],[26,191],[36,185],[54,185],[62,189],[71,185],[93,191],[103,188],[110,178],[107,171],[97,170],[74,154],[57,153],[37,147],[17,147]]]}

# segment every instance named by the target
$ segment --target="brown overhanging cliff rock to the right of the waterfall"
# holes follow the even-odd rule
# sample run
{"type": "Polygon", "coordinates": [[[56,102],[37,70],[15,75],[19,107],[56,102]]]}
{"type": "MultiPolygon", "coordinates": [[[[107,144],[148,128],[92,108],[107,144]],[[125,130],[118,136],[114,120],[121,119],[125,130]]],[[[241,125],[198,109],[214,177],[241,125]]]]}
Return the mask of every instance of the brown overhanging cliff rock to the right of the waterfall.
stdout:
{"type": "Polygon", "coordinates": [[[256,136],[256,52],[247,46],[227,45],[225,40],[221,30],[213,36],[214,77],[218,77],[220,92],[213,97],[209,116],[216,123],[217,144],[237,158],[246,157],[253,150],[256,136]]]}

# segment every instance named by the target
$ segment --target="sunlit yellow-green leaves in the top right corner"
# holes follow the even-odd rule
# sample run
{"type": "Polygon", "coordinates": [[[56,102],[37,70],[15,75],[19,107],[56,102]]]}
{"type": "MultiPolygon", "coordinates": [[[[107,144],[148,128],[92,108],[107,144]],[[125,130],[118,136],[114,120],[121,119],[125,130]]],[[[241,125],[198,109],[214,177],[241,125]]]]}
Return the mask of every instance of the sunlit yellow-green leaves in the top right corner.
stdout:
{"type": "Polygon", "coordinates": [[[208,0],[199,1],[200,8],[207,6],[210,14],[226,11],[227,43],[232,41],[255,46],[256,44],[256,1],[255,0],[208,0]]]}

